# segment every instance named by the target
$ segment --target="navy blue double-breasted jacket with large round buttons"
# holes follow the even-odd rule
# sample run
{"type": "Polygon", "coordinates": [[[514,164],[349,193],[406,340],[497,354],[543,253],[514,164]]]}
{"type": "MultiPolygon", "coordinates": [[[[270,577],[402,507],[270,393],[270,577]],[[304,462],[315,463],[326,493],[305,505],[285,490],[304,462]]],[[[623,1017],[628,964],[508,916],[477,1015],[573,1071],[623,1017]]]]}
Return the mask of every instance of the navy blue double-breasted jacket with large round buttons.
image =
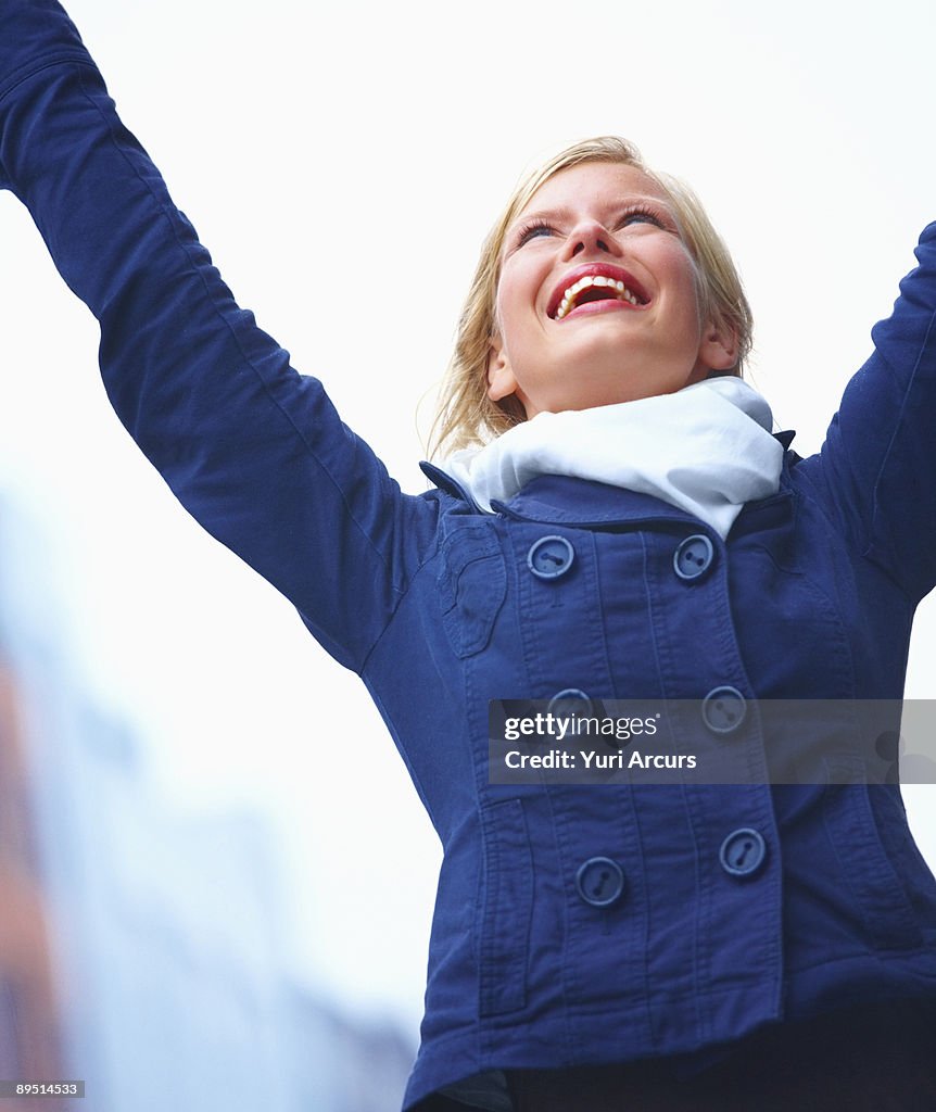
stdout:
{"type": "MultiPolygon", "coordinates": [[[[401,494],[237,307],[52,0],[0,3],[0,179],[100,320],[131,436],[361,676],[438,831],[407,1105],[485,1069],[691,1052],[850,1001],[936,995],[936,882],[898,790],[869,788],[859,766],[847,786],[641,790],[497,786],[487,767],[494,696],[900,696],[936,582],[936,226],[823,450],[787,450],[779,493],[725,543],[570,478],[494,515],[438,475],[401,494]],[[686,579],[674,553],[698,534],[714,559],[686,579]],[[568,574],[530,569],[546,535],[570,543],[568,574]],[[765,848],[747,875],[719,855],[738,830],[765,848]],[[582,868],[595,858],[613,865],[582,868]]],[[[756,723],[737,744],[765,765],[756,723]]]]}

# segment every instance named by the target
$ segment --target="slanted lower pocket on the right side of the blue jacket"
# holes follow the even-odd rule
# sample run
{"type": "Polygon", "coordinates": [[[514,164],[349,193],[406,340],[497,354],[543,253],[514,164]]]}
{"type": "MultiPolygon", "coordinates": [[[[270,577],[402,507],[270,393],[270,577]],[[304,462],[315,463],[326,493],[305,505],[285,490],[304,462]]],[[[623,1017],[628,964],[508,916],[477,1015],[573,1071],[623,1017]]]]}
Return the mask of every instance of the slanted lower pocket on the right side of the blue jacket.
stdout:
{"type": "Polygon", "coordinates": [[[878,833],[864,762],[827,757],[826,768],[826,831],[869,936],[882,950],[923,945],[919,921],[878,833]]]}

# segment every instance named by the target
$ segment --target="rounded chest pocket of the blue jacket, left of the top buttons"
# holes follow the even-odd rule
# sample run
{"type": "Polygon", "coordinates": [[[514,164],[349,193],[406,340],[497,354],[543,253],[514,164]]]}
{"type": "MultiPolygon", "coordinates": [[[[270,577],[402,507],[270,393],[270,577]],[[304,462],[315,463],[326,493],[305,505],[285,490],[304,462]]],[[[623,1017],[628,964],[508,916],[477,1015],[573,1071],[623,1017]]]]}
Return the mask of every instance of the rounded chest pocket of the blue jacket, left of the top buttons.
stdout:
{"type": "Polygon", "coordinates": [[[488,526],[462,526],[441,547],[442,625],[460,657],[480,653],[507,595],[507,565],[488,526]]]}

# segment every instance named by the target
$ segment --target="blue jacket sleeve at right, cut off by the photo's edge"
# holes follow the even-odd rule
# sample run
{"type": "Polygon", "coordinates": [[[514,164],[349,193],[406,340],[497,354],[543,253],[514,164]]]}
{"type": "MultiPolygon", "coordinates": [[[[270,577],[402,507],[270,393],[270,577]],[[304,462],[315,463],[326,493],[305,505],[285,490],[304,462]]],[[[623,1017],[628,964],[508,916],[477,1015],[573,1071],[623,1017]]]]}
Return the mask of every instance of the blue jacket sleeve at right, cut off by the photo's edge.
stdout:
{"type": "Polygon", "coordinates": [[[803,477],[914,600],[936,585],[936,224],[803,477]]]}

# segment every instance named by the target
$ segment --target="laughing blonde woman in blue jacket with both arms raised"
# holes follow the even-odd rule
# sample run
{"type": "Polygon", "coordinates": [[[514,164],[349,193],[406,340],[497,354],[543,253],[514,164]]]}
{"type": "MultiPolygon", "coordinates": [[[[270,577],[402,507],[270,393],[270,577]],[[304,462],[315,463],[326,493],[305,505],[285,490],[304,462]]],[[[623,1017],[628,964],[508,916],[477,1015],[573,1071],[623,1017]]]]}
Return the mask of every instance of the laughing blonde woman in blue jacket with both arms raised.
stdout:
{"type": "Polygon", "coordinates": [[[439,833],[407,1108],[936,1104],[899,795],[847,752],[771,787],[754,704],[900,695],[936,582],[936,228],[800,459],[698,203],[620,140],[571,148],[485,247],[454,455],[412,497],[233,302],[54,0],[0,3],[0,181],[100,320],[121,420],[361,676],[439,833]],[[490,698],[631,697],[696,701],[698,745],[761,775],[490,783],[490,698]]]}

